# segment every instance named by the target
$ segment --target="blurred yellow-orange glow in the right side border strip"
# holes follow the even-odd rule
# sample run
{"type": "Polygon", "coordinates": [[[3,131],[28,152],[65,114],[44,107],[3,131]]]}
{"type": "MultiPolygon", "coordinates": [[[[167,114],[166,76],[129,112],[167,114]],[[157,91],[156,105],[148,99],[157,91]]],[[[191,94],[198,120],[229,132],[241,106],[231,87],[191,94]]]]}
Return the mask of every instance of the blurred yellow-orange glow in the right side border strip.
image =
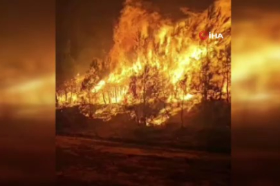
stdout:
{"type": "MultiPolygon", "coordinates": [[[[256,15],[260,11],[246,12],[256,15]]],[[[259,103],[260,107],[254,107],[256,110],[280,103],[280,30],[277,27],[280,17],[268,12],[261,14],[261,18],[236,22],[232,43],[232,101],[246,107],[250,101],[259,103]]]]}

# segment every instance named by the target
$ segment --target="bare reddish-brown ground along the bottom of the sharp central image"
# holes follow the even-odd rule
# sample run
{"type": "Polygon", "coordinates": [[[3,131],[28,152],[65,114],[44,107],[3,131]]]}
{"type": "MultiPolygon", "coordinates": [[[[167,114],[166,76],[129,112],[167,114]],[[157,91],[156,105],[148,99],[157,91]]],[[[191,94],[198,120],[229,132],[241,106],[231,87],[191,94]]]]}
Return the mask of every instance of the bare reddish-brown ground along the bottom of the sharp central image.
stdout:
{"type": "Polygon", "coordinates": [[[230,155],[57,136],[57,185],[230,185],[230,155]]]}

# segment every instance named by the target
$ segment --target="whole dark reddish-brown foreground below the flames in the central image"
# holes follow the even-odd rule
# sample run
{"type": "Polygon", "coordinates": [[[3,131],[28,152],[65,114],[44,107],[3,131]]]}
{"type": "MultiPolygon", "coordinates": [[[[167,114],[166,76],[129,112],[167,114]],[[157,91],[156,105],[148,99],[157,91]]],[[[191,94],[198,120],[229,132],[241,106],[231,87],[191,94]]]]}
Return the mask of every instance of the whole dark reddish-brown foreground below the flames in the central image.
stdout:
{"type": "Polygon", "coordinates": [[[230,128],[140,127],[57,110],[57,185],[230,185],[230,128]]]}

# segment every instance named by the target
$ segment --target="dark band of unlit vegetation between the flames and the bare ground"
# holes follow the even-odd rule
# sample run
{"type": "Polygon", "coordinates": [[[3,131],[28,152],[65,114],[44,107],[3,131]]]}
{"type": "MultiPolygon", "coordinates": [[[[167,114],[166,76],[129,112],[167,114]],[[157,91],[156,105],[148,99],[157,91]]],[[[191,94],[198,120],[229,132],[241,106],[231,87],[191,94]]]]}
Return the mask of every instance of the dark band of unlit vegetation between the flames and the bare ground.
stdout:
{"type": "Polygon", "coordinates": [[[180,113],[165,125],[145,126],[127,114],[102,121],[80,114],[78,107],[68,107],[57,110],[56,132],[64,136],[230,153],[230,106],[223,102],[209,103],[207,114],[200,107],[197,105],[184,115],[184,126],[180,123],[180,113]]]}

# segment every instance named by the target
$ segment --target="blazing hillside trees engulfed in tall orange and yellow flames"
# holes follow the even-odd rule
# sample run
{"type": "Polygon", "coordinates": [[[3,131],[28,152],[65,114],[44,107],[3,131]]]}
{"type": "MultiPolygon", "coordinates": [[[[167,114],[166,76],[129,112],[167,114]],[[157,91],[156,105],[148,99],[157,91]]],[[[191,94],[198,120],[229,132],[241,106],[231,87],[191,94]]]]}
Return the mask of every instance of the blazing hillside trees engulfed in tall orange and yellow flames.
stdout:
{"type": "Polygon", "coordinates": [[[78,106],[91,118],[127,114],[137,123],[162,125],[196,104],[230,104],[230,1],[216,1],[204,12],[181,8],[171,20],[127,0],[115,26],[106,59],[57,90],[57,107],[78,106]],[[201,41],[200,31],[223,34],[201,41]]]}

